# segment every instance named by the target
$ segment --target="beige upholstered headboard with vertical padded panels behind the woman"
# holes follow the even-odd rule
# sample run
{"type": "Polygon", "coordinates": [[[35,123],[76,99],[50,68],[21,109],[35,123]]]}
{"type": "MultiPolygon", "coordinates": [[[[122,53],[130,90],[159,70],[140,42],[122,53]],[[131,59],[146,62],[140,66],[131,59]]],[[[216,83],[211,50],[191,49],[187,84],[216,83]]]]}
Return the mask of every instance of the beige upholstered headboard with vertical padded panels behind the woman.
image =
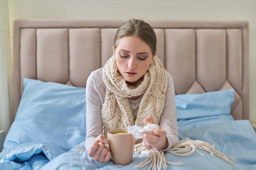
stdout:
{"type": "MultiPolygon", "coordinates": [[[[235,119],[248,119],[248,22],[151,21],[157,56],[172,74],[176,94],[234,88],[235,119]]],[[[112,54],[121,20],[16,20],[14,109],[23,77],[85,87],[92,70],[112,54]]]]}

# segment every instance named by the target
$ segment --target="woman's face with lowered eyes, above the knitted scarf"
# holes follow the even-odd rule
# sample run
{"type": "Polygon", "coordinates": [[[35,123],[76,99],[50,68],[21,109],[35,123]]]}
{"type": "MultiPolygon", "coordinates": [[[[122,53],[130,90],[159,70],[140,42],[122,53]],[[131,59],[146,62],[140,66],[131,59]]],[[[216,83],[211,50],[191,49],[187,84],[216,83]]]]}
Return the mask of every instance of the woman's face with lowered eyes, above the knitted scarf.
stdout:
{"type": "Polygon", "coordinates": [[[145,75],[154,58],[148,44],[136,36],[120,38],[114,57],[120,75],[131,85],[145,75]]]}

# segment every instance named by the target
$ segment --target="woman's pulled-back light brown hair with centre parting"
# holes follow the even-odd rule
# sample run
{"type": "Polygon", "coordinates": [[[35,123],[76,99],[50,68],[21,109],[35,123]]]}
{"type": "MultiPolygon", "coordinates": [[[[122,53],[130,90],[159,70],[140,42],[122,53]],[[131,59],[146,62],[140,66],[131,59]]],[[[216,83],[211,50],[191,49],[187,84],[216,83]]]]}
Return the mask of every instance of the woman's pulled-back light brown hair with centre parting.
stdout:
{"type": "Polygon", "coordinates": [[[142,19],[130,19],[123,23],[114,37],[114,49],[117,48],[120,38],[125,36],[136,36],[142,39],[151,48],[152,55],[157,52],[157,36],[147,22],[142,19]]]}

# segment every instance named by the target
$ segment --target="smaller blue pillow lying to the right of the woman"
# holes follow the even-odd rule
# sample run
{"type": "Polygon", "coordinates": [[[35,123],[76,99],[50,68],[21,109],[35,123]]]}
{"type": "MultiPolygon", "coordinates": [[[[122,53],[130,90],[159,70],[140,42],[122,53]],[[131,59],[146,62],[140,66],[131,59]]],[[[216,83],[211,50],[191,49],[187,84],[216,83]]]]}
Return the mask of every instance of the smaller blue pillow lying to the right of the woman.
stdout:
{"type": "Polygon", "coordinates": [[[234,99],[233,88],[203,94],[178,94],[175,96],[177,120],[230,115],[234,99]]]}

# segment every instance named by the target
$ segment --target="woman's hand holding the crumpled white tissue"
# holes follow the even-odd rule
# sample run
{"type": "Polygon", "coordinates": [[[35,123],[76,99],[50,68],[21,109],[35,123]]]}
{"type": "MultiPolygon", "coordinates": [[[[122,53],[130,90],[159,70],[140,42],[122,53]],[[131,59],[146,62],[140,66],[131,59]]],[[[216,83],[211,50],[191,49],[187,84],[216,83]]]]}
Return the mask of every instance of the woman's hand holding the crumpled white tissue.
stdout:
{"type": "MultiPolygon", "coordinates": [[[[154,119],[151,115],[145,118],[147,124],[155,124],[154,119]]],[[[159,130],[153,129],[151,132],[142,134],[142,142],[146,149],[148,150],[163,150],[169,146],[168,140],[166,138],[166,130],[160,127],[159,130]]]]}

